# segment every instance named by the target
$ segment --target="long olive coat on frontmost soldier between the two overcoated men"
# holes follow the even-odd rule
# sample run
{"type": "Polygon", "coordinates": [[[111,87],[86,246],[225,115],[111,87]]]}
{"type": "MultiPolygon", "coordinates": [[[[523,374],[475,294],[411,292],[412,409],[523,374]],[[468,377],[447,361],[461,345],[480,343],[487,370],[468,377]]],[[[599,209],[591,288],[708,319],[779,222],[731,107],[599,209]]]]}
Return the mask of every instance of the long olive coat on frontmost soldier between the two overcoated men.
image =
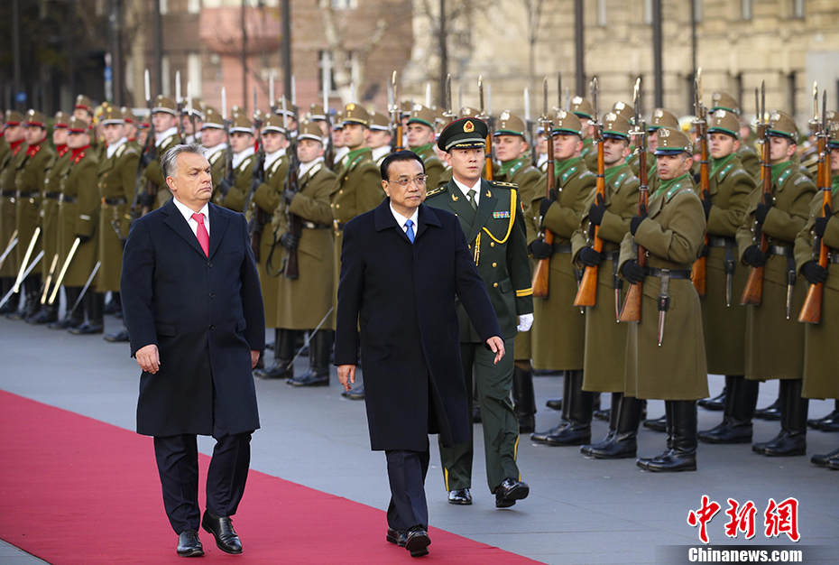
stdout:
{"type": "MultiPolygon", "coordinates": [[[[334,185],[335,173],[322,162],[298,179],[298,192],[288,209],[304,222],[297,248],[300,277],[292,280],[281,275],[278,279],[275,315],[279,328],[315,329],[332,306],[335,236],[329,192],[334,185]]],[[[286,207],[283,200],[274,215],[278,241],[289,229],[286,207]]],[[[278,244],[274,255],[274,264],[284,264],[285,247],[278,244]]],[[[321,329],[335,329],[334,312],[321,329]]]]}

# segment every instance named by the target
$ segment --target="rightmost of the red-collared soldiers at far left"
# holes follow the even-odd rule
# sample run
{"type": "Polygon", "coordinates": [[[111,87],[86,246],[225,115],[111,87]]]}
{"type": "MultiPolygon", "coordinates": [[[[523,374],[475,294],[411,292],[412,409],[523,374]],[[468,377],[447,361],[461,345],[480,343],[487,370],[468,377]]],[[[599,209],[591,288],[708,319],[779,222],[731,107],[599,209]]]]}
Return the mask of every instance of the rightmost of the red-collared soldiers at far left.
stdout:
{"type": "MultiPolygon", "coordinates": [[[[69,166],[60,181],[59,249],[60,257],[64,257],[65,261],[78,239],[78,248],[70,259],[63,280],[68,310],[72,309],[90,274],[93,273],[99,243],[97,229],[101,228],[98,225],[101,208],[97,189],[98,163],[96,157],[88,153],[89,131],[84,120],[78,117],[70,119],[67,138],[70,148],[69,166]]],[[[82,333],[102,333],[101,326],[98,332],[88,332],[86,328],[95,325],[96,320],[102,319],[101,312],[96,310],[97,301],[88,298],[93,294],[94,289],[89,288],[78,308],[69,313],[67,325],[63,328],[68,328],[70,332],[84,328],[82,333]],[[88,317],[87,322],[85,315],[88,317]]],[[[64,320],[51,324],[50,327],[62,329],[62,321],[64,320]]]]}

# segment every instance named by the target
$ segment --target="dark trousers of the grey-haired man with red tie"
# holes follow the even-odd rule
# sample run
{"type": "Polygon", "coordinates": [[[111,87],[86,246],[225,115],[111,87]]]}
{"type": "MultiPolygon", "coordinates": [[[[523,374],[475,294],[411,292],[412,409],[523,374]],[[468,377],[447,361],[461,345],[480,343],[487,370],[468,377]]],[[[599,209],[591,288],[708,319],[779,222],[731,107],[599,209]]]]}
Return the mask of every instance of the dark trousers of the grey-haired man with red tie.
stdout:
{"type": "MultiPolygon", "coordinates": [[[[244,495],[251,463],[251,433],[230,435],[213,394],[213,438],[216,447],[207,470],[207,511],[220,516],[236,513],[244,495]]],[[[198,440],[195,434],[154,438],[154,455],[161,475],[163,507],[175,533],[198,531],[198,440]]]]}

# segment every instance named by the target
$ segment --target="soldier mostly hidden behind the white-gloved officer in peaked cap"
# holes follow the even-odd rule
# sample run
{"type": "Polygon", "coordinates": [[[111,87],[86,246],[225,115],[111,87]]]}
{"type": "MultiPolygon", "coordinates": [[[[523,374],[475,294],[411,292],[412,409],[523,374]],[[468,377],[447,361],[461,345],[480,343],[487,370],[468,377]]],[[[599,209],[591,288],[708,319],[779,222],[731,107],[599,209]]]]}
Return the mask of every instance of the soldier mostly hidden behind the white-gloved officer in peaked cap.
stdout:
{"type": "MultiPolygon", "coordinates": [[[[536,198],[542,173],[528,157],[527,127],[519,116],[504,111],[498,117],[493,134],[493,153],[501,166],[494,180],[516,185],[520,202],[536,198]]],[[[532,264],[530,265],[532,268],[532,264]]],[[[512,371],[512,408],[519,419],[519,432],[530,433],[536,426],[536,397],[530,366],[530,331],[520,331],[515,338],[515,364],[512,371]]]]}

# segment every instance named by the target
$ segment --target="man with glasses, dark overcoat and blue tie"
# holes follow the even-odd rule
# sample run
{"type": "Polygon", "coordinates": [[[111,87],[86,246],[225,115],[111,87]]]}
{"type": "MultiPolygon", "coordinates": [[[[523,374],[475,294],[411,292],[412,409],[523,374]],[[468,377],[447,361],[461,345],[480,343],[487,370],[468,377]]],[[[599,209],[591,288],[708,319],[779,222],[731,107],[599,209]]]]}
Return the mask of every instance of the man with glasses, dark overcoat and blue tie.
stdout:
{"type": "Polygon", "coordinates": [[[471,427],[455,297],[495,363],[504,341],[456,216],[422,204],[422,161],[393,153],[381,173],[388,198],[344,228],[335,364],[348,390],[360,328],[370,443],[385,452],[391,485],[387,541],[418,556],[430,543],[429,433],[453,446],[471,427]]]}

